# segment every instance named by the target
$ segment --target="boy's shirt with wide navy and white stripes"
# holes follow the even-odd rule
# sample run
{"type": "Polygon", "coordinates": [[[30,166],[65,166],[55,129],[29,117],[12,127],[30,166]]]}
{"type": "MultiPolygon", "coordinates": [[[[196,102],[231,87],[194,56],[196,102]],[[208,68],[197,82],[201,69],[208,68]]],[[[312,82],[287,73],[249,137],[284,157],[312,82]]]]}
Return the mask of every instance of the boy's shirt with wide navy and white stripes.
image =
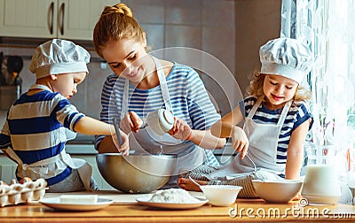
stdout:
{"type": "MultiPolygon", "coordinates": [[[[24,164],[51,158],[65,150],[68,129],[74,131],[75,123],[83,113],[59,93],[43,90],[33,96],[23,94],[12,104],[0,135],[0,149],[11,147],[24,164]]],[[[73,138],[75,133],[69,132],[73,138]]],[[[49,170],[66,166],[53,176],[43,173],[48,185],[64,180],[71,168],[62,160],[48,165],[49,170]]],[[[35,179],[33,179],[35,180],[35,179]]]]}

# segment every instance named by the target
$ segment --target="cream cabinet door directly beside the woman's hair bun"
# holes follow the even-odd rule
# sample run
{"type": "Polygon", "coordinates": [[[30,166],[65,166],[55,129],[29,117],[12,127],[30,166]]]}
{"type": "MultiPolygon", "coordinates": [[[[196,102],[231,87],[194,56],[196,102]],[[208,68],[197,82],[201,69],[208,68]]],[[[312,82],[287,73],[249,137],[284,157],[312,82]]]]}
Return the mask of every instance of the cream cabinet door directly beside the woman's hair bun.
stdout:
{"type": "Polygon", "coordinates": [[[59,0],[58,37],[92,41],[92,33],[101,12],[119,0],[59,0]]]}

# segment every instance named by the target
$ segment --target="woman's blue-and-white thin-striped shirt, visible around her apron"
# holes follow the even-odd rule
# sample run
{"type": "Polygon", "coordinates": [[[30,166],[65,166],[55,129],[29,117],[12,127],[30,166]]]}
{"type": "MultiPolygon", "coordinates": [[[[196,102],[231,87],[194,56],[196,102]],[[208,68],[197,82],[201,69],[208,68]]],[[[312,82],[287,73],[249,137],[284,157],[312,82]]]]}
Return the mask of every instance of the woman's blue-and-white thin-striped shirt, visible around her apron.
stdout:
{"type": "MultiPolygon", "coordinates": [[[[206,88],[198,73],[193,68],[175,63],[166,78],[170,103],[174,116],[183,119],[192,129],[205,130],[212,126],[220,115],[209,100],[206,88]]],[[[125,79],[111,74],[104,84],[101,104],[100,119],[109,123],[113,117],[120,117],[122,111],[122,96],[125,79]]],[[[148,112],[165,108],[162,98],[162,88],[139,89],[129,87],[128,111],[135,111],[139,117],[146,118],[148,112]]],[[[97,135],[95,146],[98,149],[99,142],[105,135],[97,135]]],[[[197,145],[194,145],[198,148],[197,145]]],[[[205,150],[209,165],[219,165],[212,150],[205,150]]]]}

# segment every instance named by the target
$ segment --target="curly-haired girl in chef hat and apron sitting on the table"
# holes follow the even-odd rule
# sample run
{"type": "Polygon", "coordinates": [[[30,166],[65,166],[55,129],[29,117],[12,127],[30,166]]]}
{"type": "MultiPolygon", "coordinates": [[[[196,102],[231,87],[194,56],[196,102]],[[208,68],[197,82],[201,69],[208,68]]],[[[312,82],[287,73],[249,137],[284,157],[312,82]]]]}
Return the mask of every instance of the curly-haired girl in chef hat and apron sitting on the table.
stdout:
{"type": "Polygon", "coordinates": [[[298,179],[304,159],[304,140],[312,127],[312,114],[304,100],[311,92],[299,86],[310,72],[312,52],[295,39],[266,42],[260,50],[261,71],[254,73],[246,97],[232,112],[217,121],[211,132],[232,137],[240,152],[219,169],[200,167],[181,174],[181,188],[199,190],[200,184],[243,186],[240,196],[254,197],[253,179],[298,179]],[[245,120],[244,127],[237,127],[245,120]]]}

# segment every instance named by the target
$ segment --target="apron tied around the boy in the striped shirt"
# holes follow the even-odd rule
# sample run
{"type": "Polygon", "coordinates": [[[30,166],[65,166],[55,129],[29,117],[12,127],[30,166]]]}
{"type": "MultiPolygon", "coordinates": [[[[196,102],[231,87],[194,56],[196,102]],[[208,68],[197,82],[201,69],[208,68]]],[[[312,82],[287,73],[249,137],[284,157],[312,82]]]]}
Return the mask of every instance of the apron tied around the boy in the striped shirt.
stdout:
{"type": "MultiPolygon", "coordinates": [[[[43,90],[51,91],[50,88],[47,88],[43,85],[35,84],[30,87],[30,89],[40,88],[43,90]]],[[[67,141],[72,140],[76,137],[76,134],[69,129],[65,128],[65,134],[67,135],[67,141]]],[[[71,158],[69,154],[66,153],[65,148],[61,152],[51,158],[45,158],[39,160],[32,164],[24,164],[20,157],[16,154],[12,148],[8,147],[6,149],[7,154],[15,160],[18,164],[18,173],[17,175],[20,178],[29,177],[33,180],[38,178],[48,179],[54,177],[61,173],[67,168],[67,165],[72,169],[77,169],[80,179],[83,181],[83,185],[87,190],[91,190],[90,181],[92,168],[91,165],[86,163],[85,160],[80,158],[71,158]],[[61,160],[62,162],[58,162],[61,160]],[[55,165],[54,165],[55,164],[55,165]]]]}

